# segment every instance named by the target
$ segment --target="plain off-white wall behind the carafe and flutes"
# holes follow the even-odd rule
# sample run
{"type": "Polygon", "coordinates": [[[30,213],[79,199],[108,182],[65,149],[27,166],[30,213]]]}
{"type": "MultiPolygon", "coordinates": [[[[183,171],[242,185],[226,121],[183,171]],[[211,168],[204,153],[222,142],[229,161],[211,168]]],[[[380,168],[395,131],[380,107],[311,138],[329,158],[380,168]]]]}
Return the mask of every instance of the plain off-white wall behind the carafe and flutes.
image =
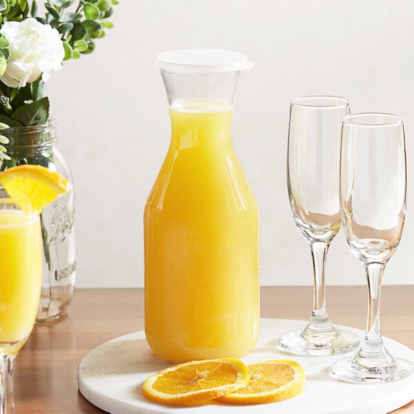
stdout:
{"type": "MultiPolygon", "coordinates": [[[[226,48],[255,63],[239,86],[233,139],[259,204],[263,285],[313,283],[286,190],[290,99],[340,95],[353,112],[402,115],[414,162],[411,0],[121,0],[112,21],[92,55],[46,84],[75,179],[78,287],[143,286],[142,213],[170,139],[159,52],[226,48]]],[[[414,284],[413,211],[409,200],[385,284],[414,284]]],[[[342,232],[327,272],[327,284],[365,284],[342,232]]]]}

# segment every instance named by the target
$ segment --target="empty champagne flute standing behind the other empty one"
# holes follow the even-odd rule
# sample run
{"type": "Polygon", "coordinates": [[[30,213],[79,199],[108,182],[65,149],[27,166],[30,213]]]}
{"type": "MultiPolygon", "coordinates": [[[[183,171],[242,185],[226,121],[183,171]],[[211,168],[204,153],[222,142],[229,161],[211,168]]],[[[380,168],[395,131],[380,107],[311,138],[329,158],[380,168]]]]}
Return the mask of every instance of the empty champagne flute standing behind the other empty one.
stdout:
{"type": "Polygon", "coordinates": [[[311,248],[314,272],[311,321],[280,338],[282,348],[297,355],[344,353],[359,343],[357,335],[333,326],[325,299],[326,255],[341,228],[341,120],[349,113],[349,102],[341,97],[309,96],[290,102],[288,193],[295,224],[311,248]]]}

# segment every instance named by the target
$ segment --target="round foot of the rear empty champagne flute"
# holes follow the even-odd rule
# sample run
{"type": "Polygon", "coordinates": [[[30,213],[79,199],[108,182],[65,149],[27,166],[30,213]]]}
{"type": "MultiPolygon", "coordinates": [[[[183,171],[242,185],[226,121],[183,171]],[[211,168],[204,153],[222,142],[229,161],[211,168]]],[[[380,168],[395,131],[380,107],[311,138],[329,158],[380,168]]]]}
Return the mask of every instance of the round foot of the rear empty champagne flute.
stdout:
{"type": "Polygon", "coordinates": [[[353,351],[359,346],[359,338],[355,333],[339,331],[333,325],[317,329],[308,324],[304,329],[284,333],[279,344],[284,351],[294,355],[323,357],[353,351]]]}

